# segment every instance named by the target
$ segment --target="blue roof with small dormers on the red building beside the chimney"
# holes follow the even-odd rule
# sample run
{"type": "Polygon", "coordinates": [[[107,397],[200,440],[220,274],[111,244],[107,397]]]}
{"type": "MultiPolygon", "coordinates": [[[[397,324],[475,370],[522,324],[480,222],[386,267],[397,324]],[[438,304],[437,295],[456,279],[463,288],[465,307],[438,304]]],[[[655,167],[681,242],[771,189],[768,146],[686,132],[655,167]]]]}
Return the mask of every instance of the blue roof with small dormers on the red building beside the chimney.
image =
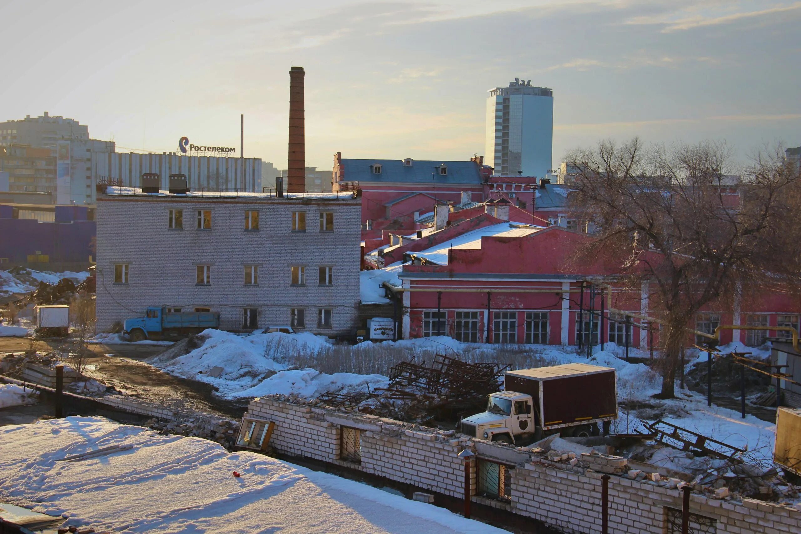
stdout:
{"type": "Polygon", "coordinates": [[[440,183],[480,184],[483,182],[478,165],[472,161],[429,161],[413,160],[406,167],[402,159],[342,159],[344,166],[343,182],[374,183],[440,183]],[[380,174],[372,171],[372,166],[381,166],[380,174]],[[441,175],[439,168],[448,167],[448,174],[441,175]]]}

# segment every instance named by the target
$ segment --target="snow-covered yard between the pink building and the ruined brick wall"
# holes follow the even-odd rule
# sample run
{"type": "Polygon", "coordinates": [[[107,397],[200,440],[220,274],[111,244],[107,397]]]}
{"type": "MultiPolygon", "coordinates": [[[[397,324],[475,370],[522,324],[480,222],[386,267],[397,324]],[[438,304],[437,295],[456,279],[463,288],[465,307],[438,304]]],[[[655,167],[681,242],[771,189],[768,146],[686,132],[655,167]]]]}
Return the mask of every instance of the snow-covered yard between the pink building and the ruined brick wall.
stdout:
{"type": "MultiPolygon", "coordinates": [[[[513,368],[539,367],[560,363],[583,362],[602,367],[614,367],[618,375],[618,402],[621,404],[618,420],[613,423],[613,432],[630,433],[644,430],[639,415],[653,421],[662,417],[694,432],[714,439],[746,448],[751,460],[767,467],[775,442],[775,425],[754,416],[740,419],[739,412],[713,405],[706,407],[706,398],[688,389],[679,390],[677,399],[658,400],[651,395],[661,389],[661,378],[643,363],[628,363],[622,359],[622,347],[606,343],[606,351],[596,347],[592,358],[577,355],[574,347],[553,345],[487,345],[485,343],[461,343],[455,339],[439,336],[422,339],[405,339],[397,342],[360,343],[353,347],[332,345],[329,339],[309,333],[288,335],[280,333],[235,335],[223,331],[207,330],[207,337],[200,347],[187,354],[175,356],[168,350],[149,360],[162,368],[184,378],[196,379],[218,388],[217,394],[225,399],[248,399],[256,396],[300,395],[316,397],[326,391],[354,393],[372,391],[388,383],[386,375],[378,374],[377,359],[392,355],[395,361],[409,361],[414,357],[421,362],[435,353],[459,355],[466,361],[511,362],[513,368]],[[299,355],[303,355],[300,357],[299,355]],[[298,365],[298,363],[302,365],[298,365]],[[338,365],[346,371],[331,369],[338,365]],[[288,370],[292,364],[300,369],[288,370]],[[218,369],[219,375],[213,372],[218,369]],[[340,371],[340,372],[336,372],[340,371]],[[371,372],[372,371],[372,372],[371,372]],[[216,375],[216,376],[215,376],[216,375]],[[642,410],[640,408],[645,407],[642,410]],[[654,416],[658,413],[658,416],[654,416]]],[[[739,343],[721,347],[724,352],[742,351],[739,343]]],[[[764,358],[767,351],[754,352],[756,358],[764,358]]],[[[646,351],[631,349],[634,357],[647,357],[646,351]]],[[[706,354],[689,354],[687,367],[705,361],[706,354]]],[[[384,362],[387,367],[392,361],[384,362]]],[[[651,461],[666,468],[694,469],[702,466],[687,459],[682,452],[663,449],[651,461]]]]}

